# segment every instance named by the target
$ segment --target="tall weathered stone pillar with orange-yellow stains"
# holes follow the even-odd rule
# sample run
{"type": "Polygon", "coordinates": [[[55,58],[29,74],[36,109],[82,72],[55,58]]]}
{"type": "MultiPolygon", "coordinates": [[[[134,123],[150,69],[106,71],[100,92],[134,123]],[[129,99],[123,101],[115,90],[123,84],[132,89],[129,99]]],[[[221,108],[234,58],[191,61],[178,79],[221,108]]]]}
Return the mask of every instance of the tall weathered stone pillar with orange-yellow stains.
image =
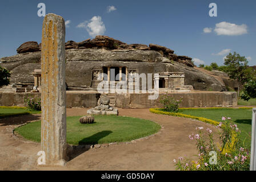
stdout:
{"type": "Polygon", "coordinates": [[[64,166],[66,144],[65,21],[47,14],[42,28],[41,150],[46,165],[64,166]]]}

